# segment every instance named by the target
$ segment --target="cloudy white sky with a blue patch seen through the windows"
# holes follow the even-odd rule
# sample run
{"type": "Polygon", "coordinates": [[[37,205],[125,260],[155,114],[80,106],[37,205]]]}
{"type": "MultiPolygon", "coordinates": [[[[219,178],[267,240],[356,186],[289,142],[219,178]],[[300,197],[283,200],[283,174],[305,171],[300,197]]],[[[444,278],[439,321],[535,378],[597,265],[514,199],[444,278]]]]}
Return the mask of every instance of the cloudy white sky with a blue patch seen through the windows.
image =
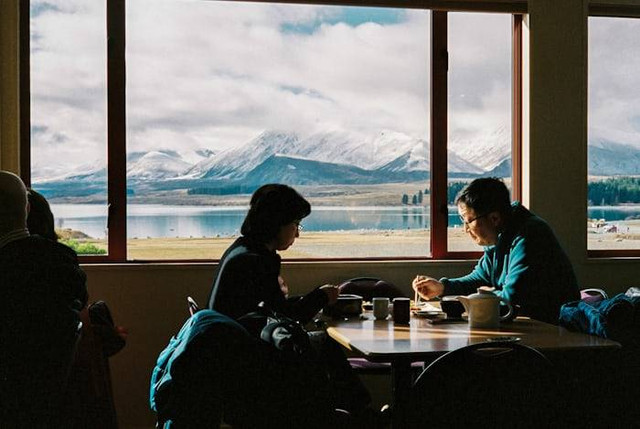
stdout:
{"type": "MultiPolygon", "coordinates": [[[[274,129],[428,139],[427,11],[129,0],[126,12],[130,151],[222,150],[274,129]]],[[[593,117],[637,135],[638,42],[608,24],[596,34],[626,54],[593,117]],[[611,91],[626,96],[614,104],[611,91]]],[[[510,27],[508,15],[450,14],[452,135],[509,126],[510,27]]],[[[103,0],[31,1],[34,169],[104,163],[105,32],[103,0]]]]}

